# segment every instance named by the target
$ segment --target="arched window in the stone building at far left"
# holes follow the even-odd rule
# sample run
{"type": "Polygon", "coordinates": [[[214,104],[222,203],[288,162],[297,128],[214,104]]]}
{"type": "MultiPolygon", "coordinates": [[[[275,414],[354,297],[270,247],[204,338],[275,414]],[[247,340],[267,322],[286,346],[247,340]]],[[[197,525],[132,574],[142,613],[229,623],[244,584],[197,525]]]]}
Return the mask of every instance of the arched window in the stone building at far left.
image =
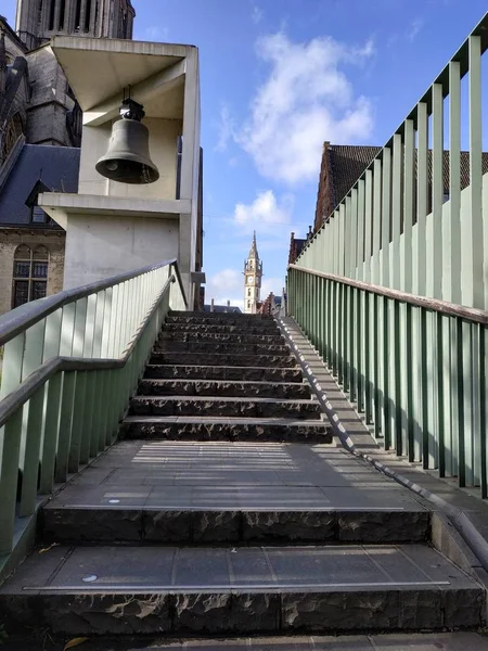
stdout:
{"type": "Polygon", "coordinates": [[[49,251],[17,246],[14,254],[12,307],[43,298],[48,293],[49,251]]]}

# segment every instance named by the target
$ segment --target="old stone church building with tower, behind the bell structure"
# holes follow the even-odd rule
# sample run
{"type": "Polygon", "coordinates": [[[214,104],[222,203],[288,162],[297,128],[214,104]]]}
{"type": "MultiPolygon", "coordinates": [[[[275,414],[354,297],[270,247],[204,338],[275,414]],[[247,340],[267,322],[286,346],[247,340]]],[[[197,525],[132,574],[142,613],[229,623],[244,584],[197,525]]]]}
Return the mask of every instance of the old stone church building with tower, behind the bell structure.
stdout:
{"type": "Polygon", "coordinates": [[[40,192],[76,192],[81,111],[49,47],[54,35],[132,38],[130,0],[17,0],[0,16],[0,314],[63,285],[64,231],[40,192]]]}

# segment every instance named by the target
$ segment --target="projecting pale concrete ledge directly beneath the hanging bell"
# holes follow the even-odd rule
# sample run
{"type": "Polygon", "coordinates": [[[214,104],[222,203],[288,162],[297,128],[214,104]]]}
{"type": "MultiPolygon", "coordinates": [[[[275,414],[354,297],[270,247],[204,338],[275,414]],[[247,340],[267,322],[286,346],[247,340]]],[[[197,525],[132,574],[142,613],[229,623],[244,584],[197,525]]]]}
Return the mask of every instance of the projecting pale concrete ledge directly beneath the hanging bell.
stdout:
{"type": "Polygon", "coordinates": [[[178,219],[181,214],[191,213],[191,201],[187,199],[147,200],[67,192],[39,194],[38,205],[64,229],[67,228],[69,215],[178,219]]]}

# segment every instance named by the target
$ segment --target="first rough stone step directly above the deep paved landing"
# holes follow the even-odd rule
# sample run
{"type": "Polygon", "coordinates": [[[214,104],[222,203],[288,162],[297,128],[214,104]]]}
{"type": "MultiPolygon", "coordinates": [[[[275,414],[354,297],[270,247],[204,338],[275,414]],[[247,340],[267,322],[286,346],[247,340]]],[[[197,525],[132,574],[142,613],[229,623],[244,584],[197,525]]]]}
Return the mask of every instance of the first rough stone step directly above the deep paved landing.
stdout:
{"type": "Polygon", "coordinates": [[[280,418],[129,416],[120,435],[132,441],[332,443],[332,430],[322,421],[280,418]]]}

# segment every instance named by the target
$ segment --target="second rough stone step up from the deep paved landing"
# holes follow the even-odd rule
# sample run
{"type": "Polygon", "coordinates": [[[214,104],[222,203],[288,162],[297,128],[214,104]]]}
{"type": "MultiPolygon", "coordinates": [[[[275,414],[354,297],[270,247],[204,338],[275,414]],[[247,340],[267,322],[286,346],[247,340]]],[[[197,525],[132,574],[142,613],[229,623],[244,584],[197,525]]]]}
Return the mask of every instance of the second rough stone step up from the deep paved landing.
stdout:
{"type": "Polygon", "coordinates": [[[311,399],[138,395],[130,400],[129,414],[320,420],[322,408],[311,399]]]}

